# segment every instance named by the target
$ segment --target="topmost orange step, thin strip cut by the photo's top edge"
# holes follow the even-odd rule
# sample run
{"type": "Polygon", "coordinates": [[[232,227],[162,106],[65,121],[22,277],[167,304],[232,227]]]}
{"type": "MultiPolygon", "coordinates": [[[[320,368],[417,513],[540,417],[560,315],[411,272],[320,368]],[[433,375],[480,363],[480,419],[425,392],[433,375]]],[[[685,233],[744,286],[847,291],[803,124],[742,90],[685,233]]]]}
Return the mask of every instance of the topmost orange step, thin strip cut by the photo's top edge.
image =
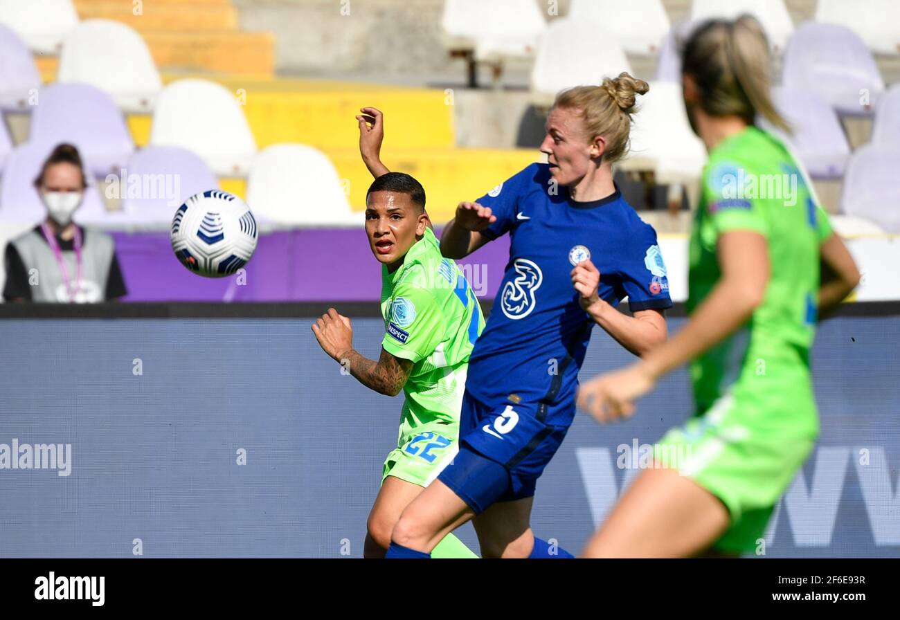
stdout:
{"type": "Polygon", "coordinates": [[[125,22],[137,31],[222,31],[238,28],[238,12],[225,3],[182,3],[158,0],[134,4],[130,0],[76,0],[81,19],[125,22]]]}

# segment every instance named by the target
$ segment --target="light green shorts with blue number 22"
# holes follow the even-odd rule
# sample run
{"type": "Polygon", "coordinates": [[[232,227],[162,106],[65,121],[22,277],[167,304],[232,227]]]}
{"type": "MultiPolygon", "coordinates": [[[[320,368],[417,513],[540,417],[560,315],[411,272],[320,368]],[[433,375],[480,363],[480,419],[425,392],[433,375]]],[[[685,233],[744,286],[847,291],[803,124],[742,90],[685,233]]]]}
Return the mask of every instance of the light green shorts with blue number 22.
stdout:
{"type": "Polygon", "coordinates": [[[425,424],[401,437],[399,447],[384,460],[382,483],[388,476],[427,487],[456,455],[458,425],[425,424]]]}

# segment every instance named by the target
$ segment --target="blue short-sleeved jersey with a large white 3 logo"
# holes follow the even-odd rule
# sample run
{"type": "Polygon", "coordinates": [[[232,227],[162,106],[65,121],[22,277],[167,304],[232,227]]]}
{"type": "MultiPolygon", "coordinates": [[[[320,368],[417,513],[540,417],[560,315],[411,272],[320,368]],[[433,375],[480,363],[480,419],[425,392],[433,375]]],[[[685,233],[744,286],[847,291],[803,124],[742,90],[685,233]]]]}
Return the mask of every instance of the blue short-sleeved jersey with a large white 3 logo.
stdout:
{"type": "MultiPolygon", "coordinates": [[[[486,403],[510,395],[554,404],[573,399],[594,322],[570,273],[586,258],[600,272],[599,296],[632,311],[672,305],[653,227],[618,191],[575,202],[546,164],[532,164],[478,201],[497,216],[482,234],[509,232],[509,263],[491,317],[475,342],[466,390],[486,403]]],[[[618,345],[617,345],[618,346],[618,345]]],[[[572,408],[572,413],[573,413],[572,408]]]]}

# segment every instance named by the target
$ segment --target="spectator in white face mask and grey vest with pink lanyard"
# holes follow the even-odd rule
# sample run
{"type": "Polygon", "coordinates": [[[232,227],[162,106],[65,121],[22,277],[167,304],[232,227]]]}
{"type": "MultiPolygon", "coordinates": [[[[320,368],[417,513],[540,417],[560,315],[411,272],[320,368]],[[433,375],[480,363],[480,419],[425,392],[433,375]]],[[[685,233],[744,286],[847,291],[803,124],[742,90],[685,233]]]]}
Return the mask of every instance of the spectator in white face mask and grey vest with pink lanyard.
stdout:
{"type": "Polygon", "coordinates": [[[72,221],[87,187],[78,150],[60,144],[34,186],[47,218],[6,245],[6,301],[92,303],[125,295],[112,237],[72,221]]]}

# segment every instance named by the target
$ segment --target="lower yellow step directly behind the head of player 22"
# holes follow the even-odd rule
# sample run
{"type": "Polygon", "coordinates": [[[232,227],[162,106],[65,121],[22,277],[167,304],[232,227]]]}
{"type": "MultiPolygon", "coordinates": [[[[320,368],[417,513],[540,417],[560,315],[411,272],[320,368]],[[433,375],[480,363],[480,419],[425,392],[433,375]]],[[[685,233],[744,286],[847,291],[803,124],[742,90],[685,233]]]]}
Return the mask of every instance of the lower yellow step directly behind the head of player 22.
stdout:
{"type": "MultiPolygon", "coordinates": [[[[372,175],[359,152],[349,148],[325,152],[349,187],[350,205],[357,211],[365,209],[365,192],[372,184],[372,175]]],[[[540,157],[530,148],[390,148],[384,153],[384,164],[419,180],[425,187],[431,220],[442,224],[453,218],[459,202],[480,198],[540,157]]]]}

